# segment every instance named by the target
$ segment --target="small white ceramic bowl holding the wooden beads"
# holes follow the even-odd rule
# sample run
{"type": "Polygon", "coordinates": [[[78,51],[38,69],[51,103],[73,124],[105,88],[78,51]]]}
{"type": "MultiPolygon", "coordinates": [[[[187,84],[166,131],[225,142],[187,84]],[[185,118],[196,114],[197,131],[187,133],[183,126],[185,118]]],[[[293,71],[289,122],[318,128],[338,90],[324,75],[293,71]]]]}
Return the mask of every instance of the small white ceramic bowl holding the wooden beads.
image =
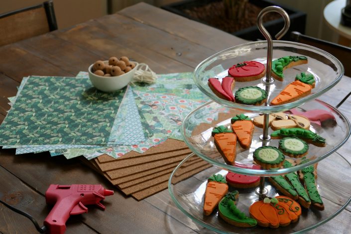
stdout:
{"type": "MultiPolygon", "coordinates": [[[[109,61],[106,60],[104,61],[104,63],[109,64],[109,61]]],[[[92,64],[89,66],[89,69],[88,69],[89,79],[92,82],[92,84],[95,86],[95,88],[97,88],[98,90],[101,90],[104,92],[117,91],[125,87],[133,79],[134,73],[138,67],[138,63],[137,62],[131,62],[131,63],[134,63],[135,67],[131,69],[129,72],[120,76],[111,76],[111,77],[95,75],[92,72],[92,68],[94,65],[92,64]]]]}

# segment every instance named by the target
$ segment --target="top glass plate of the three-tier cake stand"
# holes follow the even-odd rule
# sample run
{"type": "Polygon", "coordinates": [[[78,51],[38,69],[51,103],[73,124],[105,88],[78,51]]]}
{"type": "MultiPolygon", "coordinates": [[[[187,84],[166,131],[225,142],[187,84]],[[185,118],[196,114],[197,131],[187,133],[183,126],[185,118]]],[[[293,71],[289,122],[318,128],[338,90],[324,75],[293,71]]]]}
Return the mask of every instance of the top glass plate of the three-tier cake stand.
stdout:
{"type": "MultiPolygon", "coordinates": [[[[292,103],[278,106],[249,106],[238,104],[217,97],[208,86],[209,78],[216,77],[221,80],[228,76],[228,69],[234,64],[243,61],[258,61],[266,64],[267,41],[249,42],[221,51],[201,62],[195,68],[193,78],[195,84],[203,93],[222,106],[249,112],[274,113],[298,107],[307,101],[317,98],[334,87],[344,74],[344,67],[340,61],[321,49],[297,42],[273,41],[273,60],[290,55],[306,56],[308,58],[308,63],[284,70],[284,81],[275,80],[275,82],[270,85],[267,99],[268,105],[280,91],[295,80],[297,74],[301,72],[311,73],[316,79],[316,85],[315,88],[312,89],[311,94],[292,103]]],[[[258,86],[262,89],[266,89],[265,83],[262,79],[259,79],[250,82],[235,82],[233,93],[239,88],[247,86],[258,86]]]]}

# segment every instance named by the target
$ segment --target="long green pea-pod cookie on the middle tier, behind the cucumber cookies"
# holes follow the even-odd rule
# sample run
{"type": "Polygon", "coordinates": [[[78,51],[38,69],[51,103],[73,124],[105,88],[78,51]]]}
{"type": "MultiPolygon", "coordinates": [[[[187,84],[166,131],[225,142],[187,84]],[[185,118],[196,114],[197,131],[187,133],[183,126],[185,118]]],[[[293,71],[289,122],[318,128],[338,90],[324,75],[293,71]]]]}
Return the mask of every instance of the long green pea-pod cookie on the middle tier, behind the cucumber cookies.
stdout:
{"type": "Polygon", "coordinates": [[[326,139],[322,136],[314,133],[310,130],[303,129],[303,128],[281,128],[279,130],[273,131],[271,136],[297,136],[302,138],[310,139],[316,143],[326,143],[326,139]]]}

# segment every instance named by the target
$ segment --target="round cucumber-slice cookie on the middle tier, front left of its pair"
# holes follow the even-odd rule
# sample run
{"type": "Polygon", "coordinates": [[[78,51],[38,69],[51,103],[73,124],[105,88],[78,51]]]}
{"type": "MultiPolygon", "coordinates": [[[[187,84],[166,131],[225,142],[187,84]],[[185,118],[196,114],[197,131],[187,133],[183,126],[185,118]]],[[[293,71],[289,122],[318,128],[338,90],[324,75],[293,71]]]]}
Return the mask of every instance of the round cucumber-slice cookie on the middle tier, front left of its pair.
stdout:
{"type": "Polygon", "coordinates": [[[277,147],[262,146],[258,147],[253,152],[253,160],[258,165],[269,169],[282,166],[285,160],[285,156],[277,147]]]}

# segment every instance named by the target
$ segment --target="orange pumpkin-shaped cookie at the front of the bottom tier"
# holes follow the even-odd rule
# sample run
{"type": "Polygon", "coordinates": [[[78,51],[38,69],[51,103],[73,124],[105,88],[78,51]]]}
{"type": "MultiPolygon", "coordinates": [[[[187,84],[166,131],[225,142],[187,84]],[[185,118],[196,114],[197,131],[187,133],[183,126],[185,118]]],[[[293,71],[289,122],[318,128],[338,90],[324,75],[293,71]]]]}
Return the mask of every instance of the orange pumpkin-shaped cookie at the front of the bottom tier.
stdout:
{"type": "Polygon", "coordinates": [[[291,198],[277,196],[253,203],[249,212],[259,226],[276,229],[297,222],[301,216],[301,207],[291,198]]]}

